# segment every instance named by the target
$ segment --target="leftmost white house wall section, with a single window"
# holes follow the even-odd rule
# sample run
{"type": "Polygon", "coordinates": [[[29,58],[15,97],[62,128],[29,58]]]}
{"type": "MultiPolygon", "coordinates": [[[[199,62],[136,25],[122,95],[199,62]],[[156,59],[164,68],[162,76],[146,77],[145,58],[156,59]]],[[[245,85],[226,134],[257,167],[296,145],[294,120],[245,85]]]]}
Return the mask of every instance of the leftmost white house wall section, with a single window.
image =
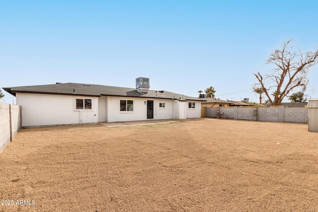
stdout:
{"type": "Polygon", "coordinates": [[[22,106],[22,127],[96,123],[97,97],[16,93],[22,106]],[[91,110],[76,110],[76,99],[91,99],[91,110]]]}

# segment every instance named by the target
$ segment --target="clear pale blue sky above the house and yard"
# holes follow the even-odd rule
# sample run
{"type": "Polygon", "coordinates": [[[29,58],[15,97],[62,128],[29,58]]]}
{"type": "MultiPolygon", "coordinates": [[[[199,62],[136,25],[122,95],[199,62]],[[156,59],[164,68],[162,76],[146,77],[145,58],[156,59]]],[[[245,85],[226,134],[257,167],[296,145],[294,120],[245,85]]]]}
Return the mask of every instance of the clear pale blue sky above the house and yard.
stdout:
{"type": "MultiPolygon", "coordinates": [[[[0,87],[78,82],[258,101],[252,73],[296,39],[318,47],[317,0],[0,1],[0,87]]],[[[318,69],[307,93],[318,98],[318,69]]],[[[4,92],[5,101],[13,96],[4,92]]],[[[0,101],[3,101],[1,99],[0,101]]]]}

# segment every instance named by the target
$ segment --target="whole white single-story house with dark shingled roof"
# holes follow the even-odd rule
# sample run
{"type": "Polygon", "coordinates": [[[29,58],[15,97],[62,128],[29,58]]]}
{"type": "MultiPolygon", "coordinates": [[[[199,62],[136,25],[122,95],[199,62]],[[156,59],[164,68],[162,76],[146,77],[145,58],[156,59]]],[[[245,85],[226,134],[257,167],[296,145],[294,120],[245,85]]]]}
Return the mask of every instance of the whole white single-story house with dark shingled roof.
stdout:
{"type": "Polygon", "coordinates": [[[201,117],[202,99],[150,90],[144,77],[136,88],[56,83],[3,89],[22,106],[22,127],[201,117]]]}

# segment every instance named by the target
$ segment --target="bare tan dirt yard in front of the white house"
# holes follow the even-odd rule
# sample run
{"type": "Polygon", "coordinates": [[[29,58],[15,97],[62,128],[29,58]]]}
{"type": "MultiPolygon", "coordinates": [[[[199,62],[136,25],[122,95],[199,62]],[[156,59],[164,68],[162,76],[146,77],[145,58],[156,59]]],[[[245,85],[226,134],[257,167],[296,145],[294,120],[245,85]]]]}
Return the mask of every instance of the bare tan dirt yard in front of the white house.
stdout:
{"type": "Polygon", "coordinates": [[[307,124],[22,129],[0,164],[0,212],[318,211],[307,124]]]}

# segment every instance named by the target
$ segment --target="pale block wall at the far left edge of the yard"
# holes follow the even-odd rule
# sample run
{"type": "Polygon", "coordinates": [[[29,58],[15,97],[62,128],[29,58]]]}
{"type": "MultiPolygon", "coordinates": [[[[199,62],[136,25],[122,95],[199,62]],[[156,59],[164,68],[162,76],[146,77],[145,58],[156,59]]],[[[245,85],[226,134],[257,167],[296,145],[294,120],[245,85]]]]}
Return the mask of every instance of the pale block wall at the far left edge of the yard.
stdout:
{"type": "Polygon", "coordinates": [[[20,129],[21,107],[0,102],[0,153],[4,150],[10,139],[20,129]],[[11,107],[11,128],[10,128],[10,107],[11,107]],[[10,133],[12,137],[10,137],[10,133]]]}

